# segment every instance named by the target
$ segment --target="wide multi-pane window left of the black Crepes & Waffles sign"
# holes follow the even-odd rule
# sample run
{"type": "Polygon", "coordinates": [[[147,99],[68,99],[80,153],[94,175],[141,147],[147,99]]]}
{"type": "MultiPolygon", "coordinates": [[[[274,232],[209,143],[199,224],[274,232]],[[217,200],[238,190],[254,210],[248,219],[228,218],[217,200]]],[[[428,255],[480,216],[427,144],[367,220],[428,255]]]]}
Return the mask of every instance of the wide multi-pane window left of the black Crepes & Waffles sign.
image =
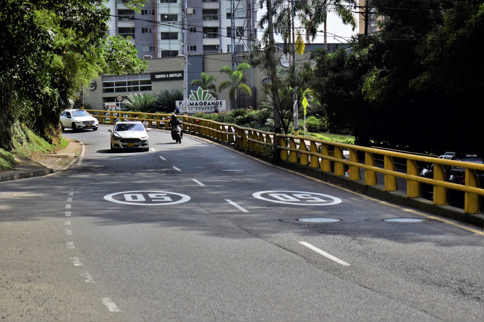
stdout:
{"type": "Polygon", "coordinates": [[[150,74],[103,76],[103,93],[151,91],[150,74]]]}

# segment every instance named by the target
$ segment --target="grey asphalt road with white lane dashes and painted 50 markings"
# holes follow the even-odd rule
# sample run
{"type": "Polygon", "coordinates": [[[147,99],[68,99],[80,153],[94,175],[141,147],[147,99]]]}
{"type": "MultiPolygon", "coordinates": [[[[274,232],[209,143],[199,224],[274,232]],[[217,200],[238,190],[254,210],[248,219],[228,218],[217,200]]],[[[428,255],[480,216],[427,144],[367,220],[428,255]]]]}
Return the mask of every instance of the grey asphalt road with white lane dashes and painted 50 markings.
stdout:
{"type": "Polygon", "coordinates": [[[479,228],[385,222],[428,218],[188,135],[110,153],[108,128],[0,184],[2,321],[482,321],[479,228]]]}

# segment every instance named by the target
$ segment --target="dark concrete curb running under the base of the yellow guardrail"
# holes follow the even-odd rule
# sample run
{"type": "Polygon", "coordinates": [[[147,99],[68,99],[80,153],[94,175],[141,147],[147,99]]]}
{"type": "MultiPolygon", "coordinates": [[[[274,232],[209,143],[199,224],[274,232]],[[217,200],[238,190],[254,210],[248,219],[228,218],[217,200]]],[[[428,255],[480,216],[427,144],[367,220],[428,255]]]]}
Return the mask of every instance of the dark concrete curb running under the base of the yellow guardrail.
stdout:
{"type": "MultiPolygon", "coordinates": [[[[160,131],[163,131],[159,129],[160,131]]],[[[361,193],[363,195],[375,197],[378,199],[386,200],[394,204],[401,206],[418,209],[430,214],[439,215],[442,217],[462,221],[468,224],[476,225],[484,228],[484,214],[466,214],[464,209],[455,208],[452,206],[435,206],[432,201],[423,198],[407,198],[407,195],[399,191],[385,191],[382,186],[365,185],[364,180],[350,181],[344,176],[335,176],[332,172],[321,172],[319,168],[311,168],[309,166],[301,166],[299,163],[289,163],[287,161],[274,162],[272,157],[262,155],[260,153],[246,151],[236,146],[232,146],[228,143],[220,143],[214,138],[206,137],[201,134],[185,132],[184,135],[190,135],[198,138],[204,138],[214,143],[222,144],[230,147],[233,150],[243,152],[247,155],[257,157],[268,163],[274,164],[279,167],[283,167],[301,174],[305,174],[309,177],[319,179],[331,184],[335,184],[351,191],[361,193]]]]}

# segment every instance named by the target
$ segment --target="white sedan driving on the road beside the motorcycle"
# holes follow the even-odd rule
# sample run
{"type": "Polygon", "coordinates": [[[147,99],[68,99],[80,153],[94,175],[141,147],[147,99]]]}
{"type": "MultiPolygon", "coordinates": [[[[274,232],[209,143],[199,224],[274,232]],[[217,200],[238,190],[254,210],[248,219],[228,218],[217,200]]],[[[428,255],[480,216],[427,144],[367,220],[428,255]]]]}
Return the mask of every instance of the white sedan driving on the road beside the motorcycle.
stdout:
{"type": "Polygon", "coordinates": [[[139,121],[117,122],[108,131],[111,132],[111,152],[116,149],[141,149],[146,152],[150,149],[147,132],[151,129],[145,129],[139,121]]]}

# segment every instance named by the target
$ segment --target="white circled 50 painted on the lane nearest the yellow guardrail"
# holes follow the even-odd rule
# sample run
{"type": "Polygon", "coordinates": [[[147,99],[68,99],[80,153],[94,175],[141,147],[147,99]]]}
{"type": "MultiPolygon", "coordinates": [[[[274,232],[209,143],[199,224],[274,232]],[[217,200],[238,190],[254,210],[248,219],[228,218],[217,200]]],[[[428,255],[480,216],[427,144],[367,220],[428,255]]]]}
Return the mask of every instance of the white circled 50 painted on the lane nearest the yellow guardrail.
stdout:
{"type": "Polygon", "coordinates": [[[329,206],[341,202],[341,199],[333,196],[306,191],[268,190],[255,192],[252,196],[261,200],[299,206],[329,206]]]}

